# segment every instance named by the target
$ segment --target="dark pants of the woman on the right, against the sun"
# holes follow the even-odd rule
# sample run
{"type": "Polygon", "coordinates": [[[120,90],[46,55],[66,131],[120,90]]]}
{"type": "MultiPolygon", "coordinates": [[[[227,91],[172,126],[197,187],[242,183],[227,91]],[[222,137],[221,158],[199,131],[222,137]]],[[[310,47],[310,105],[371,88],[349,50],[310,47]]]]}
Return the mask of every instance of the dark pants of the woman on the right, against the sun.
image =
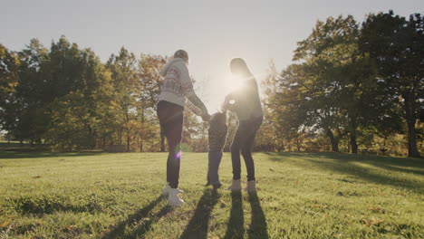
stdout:
{"type": "Polygon", "coordinates": [[[231,143],[231,162],[233,164],[233,179],[241,178],[240,151],[245,159],[247,181],[255,180],[255,163],[252,158],[252,146],[257,129],[262,125],[263,117],[240,121],[233,142],[231,143]]]}

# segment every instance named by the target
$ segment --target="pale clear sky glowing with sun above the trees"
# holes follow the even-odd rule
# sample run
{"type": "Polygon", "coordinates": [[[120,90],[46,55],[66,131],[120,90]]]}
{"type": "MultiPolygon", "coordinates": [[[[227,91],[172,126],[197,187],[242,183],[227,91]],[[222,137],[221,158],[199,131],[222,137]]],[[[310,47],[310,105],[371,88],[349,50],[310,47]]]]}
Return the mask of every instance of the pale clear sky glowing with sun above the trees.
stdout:
{"type": "Polygon", "coordinates": [[[262,0],[262,1],[109,1],[0,0],[0,43],[19,51],[32,38],[46,47],[61,35],[92,48],[102,62],[121,46],[130,52],[172,55],[188,51],[189,71],[202,82],[199,92],[216,111],[234,88],[229,62],[245,59],[256,79],[264,79],[269,62],[281,71],[292,63],[296,43],[312,33],[317,20],[394,10],[424,14],[419,0],[262,0]]]}

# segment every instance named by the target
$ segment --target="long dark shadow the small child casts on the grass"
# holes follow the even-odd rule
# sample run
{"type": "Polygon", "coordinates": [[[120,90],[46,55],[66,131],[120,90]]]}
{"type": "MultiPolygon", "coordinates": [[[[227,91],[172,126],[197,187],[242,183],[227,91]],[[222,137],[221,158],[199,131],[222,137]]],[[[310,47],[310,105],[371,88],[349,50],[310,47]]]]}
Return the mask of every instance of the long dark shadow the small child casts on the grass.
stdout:
{"type": "Polygon", "coordinates": [[[191,217],[186,229],[179,238],[207,238],[209,218],[214,206],[217,205],[218,198],[217,188],[205,189],[203,196],[198,201],[193,217],[191,217]]]}

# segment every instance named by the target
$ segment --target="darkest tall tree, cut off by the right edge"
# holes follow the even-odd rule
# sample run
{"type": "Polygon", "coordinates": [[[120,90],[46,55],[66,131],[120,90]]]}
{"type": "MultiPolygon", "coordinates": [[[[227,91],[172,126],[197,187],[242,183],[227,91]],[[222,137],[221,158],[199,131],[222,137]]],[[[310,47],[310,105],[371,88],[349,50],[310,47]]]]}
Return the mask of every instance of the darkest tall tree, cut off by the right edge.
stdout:
{"type": "Polygon", "coordinates": [[[361,50],[376,62],[388,97],[397,96],[408,126],[408,156],[419,157],[415,125],[424,95],[424,16],[370,14],[361,28],[361,50]]]}

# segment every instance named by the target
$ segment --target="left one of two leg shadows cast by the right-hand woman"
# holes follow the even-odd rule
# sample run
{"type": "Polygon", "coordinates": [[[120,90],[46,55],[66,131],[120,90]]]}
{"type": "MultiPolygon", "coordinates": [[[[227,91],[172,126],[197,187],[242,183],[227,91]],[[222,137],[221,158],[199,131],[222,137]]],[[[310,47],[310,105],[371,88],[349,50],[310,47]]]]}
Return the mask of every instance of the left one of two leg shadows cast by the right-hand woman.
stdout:
{"type": "Polygon", "coordinates": [[[231,212],[226,225],[226,239],[243,238],[245,221],[243,215],[243,200],[241,191],[231,192],[231,212]]]}

